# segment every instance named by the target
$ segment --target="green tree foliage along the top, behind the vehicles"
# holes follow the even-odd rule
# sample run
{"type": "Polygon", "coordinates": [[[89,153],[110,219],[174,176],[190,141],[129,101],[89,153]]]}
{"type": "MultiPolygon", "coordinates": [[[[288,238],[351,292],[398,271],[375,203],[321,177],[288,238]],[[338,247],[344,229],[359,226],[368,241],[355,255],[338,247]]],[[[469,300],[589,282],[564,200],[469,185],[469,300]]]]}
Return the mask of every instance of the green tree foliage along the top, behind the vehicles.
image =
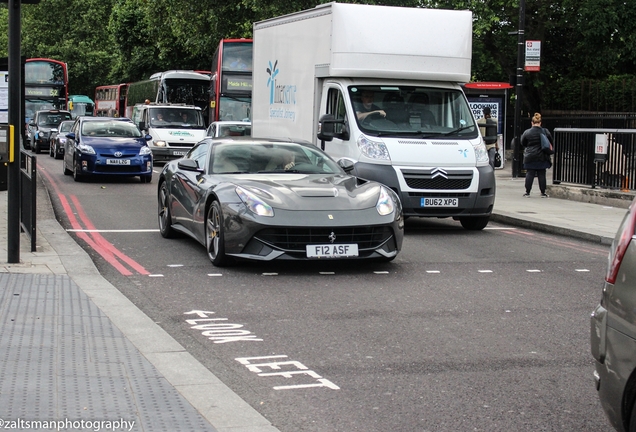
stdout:
{"type": "MultiPolygon", "coordinates": [[[[579,85],[584,80],[606,82],[604,88],[617,89],[621,87],[609,83],[630,81],[634,76],[636,8],[625,0],[365,3],[472,11],[473,79],[507,82],[517,66],[514,32],[519,28],[521,1],[526,5],[525,39],[542,41],[541,71],[524,74],[528,112],[575,105],[572,101],[584,99],[581,88],[585,86],[579,85]],[[570,102],[564,104],[568,98],[570,102]]],[[[90,95],[97,85],[144,79],[159,70],[209,70],[221,38],[249,38],[252,23],[316,4],[307,0],[42,0],[22,6],[22,55],[67,62],[71,92],[90,95]]],[[[0,25],[5,29],[7,16],[7,6],[0,5],[4,18],[0,25]]],[[[6,40],[7,31],[0,35],[6,40]]],[[[0,47],[6,46],[0,42],[0,47]]]]}

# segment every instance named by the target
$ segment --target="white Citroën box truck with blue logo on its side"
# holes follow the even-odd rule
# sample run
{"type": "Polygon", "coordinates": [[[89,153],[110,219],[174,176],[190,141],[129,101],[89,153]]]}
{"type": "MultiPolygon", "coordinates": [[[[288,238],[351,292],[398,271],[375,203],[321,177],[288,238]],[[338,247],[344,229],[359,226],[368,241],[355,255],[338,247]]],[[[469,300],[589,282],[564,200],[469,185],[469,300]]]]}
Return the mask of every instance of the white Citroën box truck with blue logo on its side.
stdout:
{"type": "Polygon", "coordinates": [[[322,146],[407,217],[488,224],[495,175],[460,86],[470,11],[328,3],[253,30],[253,136],[322,146]]]}

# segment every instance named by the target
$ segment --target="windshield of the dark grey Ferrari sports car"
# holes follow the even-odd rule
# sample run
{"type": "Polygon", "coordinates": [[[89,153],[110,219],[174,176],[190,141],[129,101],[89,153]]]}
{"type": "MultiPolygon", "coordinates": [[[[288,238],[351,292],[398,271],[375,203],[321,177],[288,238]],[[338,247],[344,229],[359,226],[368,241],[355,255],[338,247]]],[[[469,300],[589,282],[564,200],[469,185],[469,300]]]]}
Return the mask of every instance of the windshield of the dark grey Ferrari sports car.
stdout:
{"type": "Polygon", "coordinates": [[[213,146],[212,173],[344,174],[317,148],[296,143],[219,143],[213,146]]]}

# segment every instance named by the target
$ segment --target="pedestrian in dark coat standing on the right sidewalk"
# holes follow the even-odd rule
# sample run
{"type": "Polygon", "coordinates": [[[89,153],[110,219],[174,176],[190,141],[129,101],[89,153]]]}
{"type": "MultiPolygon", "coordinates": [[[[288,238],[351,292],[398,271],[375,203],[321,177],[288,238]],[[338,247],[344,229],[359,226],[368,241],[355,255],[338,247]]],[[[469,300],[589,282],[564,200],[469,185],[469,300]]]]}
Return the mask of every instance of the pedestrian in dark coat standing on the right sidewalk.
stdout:
{"type": "Polygon", "coordinates": [[[552,145],[554,140],[550,131],[541,127],[541,114],[535,113],[532,116],[532,127],[521,135],[521,148],[523,148],[523,167],[526,169],[526,193],[524,197],[530,197],[534,178],[539,179],[539,190],[541,198],[547,198],[545,193],[546,179],[545,170],[552,166],[550,155],[541,148],[541,134],[545,134],[552,145]]]}

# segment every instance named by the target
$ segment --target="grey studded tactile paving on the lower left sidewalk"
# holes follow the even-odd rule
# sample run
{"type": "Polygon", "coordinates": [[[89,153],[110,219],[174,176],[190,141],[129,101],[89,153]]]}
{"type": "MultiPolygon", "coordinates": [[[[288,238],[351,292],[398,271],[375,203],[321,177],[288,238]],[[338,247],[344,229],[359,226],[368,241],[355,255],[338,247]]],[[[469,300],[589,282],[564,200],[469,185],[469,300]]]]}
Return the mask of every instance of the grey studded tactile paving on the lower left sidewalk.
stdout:
{"type": "Polygon", "coordinates": [[[216,431],[67,275],[0,274],[0,418],[216,431]]]}

